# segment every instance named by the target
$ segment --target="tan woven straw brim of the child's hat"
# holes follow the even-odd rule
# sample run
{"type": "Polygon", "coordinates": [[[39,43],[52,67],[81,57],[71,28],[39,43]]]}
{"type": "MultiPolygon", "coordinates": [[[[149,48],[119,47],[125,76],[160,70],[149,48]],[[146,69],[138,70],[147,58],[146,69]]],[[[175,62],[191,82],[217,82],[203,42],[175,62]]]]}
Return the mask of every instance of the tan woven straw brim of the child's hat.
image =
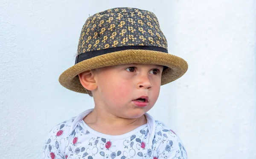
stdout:
{"type": "Polygon", "coordinates": [[[185,60],[164,52],[128,49],[96,56],[75,64],[65,70],[59,77],[62,86],[78,93],[87,93],[81,85],[78,74],[87,70],[119,64],[157,64],[167,66],[163,70],[161,85],[168,84],[180,78],[188,69],[185,60]]]}

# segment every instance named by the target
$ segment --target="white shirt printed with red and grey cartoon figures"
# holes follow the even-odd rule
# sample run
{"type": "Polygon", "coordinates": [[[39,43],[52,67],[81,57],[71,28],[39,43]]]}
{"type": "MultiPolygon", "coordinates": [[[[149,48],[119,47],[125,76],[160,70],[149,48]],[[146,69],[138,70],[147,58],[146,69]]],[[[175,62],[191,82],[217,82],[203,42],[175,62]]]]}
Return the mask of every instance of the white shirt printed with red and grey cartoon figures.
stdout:
{"type": "Polygon", "coordinates": [[[187,159],[175,132],[148,113],[147,124],[112,136],[93,130],[83,121],[92,110],[56,125],[45,140],[43,159],[187,159]]]}

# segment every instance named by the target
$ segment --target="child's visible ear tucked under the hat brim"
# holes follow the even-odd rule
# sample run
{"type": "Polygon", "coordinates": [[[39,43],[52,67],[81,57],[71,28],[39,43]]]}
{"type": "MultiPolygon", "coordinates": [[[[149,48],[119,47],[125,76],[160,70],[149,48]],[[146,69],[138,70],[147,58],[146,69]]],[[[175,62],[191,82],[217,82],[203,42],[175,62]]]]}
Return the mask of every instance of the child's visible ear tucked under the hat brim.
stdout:
{"type": "Polygon", "coordinates": [[[82,86],[87,90],[95,90],[97,88],[96,81],[94,79],[94,74],[92,71],[88,70],[82,72],[78,76],[82,86]]]}

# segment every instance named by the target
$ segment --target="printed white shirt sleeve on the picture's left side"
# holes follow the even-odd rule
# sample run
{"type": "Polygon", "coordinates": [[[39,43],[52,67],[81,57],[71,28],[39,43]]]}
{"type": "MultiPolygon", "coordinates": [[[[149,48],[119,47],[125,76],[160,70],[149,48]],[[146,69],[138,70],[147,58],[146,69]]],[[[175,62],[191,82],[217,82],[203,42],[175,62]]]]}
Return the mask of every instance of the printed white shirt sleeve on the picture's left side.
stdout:
{"type": "Polygon", "coordinates": [[[61,123],[52,128],[45,138],[42,159],[65,159],[64,148],[68,130],[66,124],[61,123]]]}

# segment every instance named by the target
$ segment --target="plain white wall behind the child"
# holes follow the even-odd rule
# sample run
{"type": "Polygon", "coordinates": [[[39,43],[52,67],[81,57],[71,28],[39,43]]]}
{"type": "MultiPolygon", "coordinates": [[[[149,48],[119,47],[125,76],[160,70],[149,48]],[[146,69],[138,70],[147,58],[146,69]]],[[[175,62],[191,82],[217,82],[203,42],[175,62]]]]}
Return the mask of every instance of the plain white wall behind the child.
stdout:
{"type": "Polygon", "coordinates": [[[189,64],[151,115],[179,134],[190,159],[255,159],[255,0],[158,2],[0,1],[0,158],[40,158],[55,124],[93,107],[58,76],[74,64],[89,14],[129,6],[154,12],[169,52],[189,64]]]}

